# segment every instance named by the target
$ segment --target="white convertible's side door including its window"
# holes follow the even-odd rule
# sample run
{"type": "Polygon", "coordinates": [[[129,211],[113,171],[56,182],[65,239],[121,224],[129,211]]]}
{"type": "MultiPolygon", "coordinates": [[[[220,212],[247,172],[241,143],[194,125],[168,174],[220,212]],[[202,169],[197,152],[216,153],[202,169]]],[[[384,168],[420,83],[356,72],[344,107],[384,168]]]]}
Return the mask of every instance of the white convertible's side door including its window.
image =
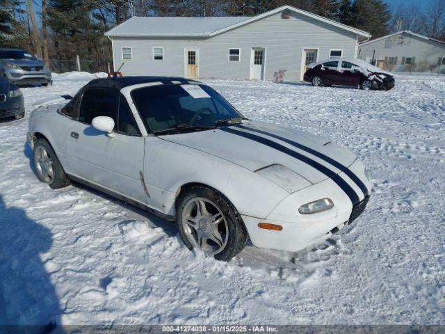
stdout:
{"type": "Polygon", "coordinates": [[[67,152],[74,176],[125,197],[147,203],[140,136],[127,100],[118,90],[88,88],[76,120],[68,125],[67,152]],[[91,126],[97,116],[115,121],[111,136],[91,126]]]}

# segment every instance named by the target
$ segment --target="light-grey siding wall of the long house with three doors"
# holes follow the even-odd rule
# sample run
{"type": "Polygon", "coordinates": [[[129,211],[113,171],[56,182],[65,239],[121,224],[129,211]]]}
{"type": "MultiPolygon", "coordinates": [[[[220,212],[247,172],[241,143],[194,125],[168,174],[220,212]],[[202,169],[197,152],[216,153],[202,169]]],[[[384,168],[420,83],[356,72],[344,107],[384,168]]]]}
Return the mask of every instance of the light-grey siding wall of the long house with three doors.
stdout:
{"type": "Polygon", "coordinates": [[[133,47],[133,59],[125,61],[126,75],[166,75],[184,77],[184,49],[199,49],[199,77],[249,79],[252,47],[266,49],[265,79],[286,70],[284,79],[300,79],[303,47],[319,50],[318,60],[329,58],[330,49],[343,49],[343,57],[353,57],[357,35],[316,19],[281,13],[202,40],[113,38],[115,67],[122,63],[121,47],[133,47]],[[154,61],[152,47],[164,48],[164,60],[154,61]],[[241,49],[241,61],[229,62],[230,48],[241,49]]]}

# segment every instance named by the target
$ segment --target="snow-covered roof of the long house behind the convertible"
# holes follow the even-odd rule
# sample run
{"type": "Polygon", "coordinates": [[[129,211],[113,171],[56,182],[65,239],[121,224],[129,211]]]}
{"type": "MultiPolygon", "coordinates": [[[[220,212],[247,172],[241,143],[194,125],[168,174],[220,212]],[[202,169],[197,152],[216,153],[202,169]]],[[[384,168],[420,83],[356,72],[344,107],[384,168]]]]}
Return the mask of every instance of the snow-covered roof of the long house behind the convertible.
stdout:
{"type": "Polygon", "coordinates": [[[224,33],[225,31],[258,21],[259,19],[264,19],[270,15],[280,13],[283,10],[289,10],[307,17],[312,17],[313,19],[317,19],[318,21],[325,22],[332,26],[337,26],[337,28],[353,32],[364,38],[371,38],[371,35],[366,31],[346,26],[345,24],[332,21],[332,19],[327,19],[292,6],[281,6],[252,17],[131,17],[131,19],[128,19],[122,24],[115,26],[110,31],[107,31],[105,35],[110,37],[205,38],[224,33]]]}

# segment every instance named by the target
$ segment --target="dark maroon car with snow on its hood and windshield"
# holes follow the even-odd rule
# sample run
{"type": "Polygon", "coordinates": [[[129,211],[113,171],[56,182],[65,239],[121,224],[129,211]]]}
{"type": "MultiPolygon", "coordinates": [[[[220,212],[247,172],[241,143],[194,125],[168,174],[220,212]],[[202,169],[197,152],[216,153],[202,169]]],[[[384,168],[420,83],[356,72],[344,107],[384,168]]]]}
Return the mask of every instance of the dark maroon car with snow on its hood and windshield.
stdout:
{"type": "Polygon", "coordinates": [[[389,90],[395,84],[391,73],[355,58],[331,58],[309,64],[304,79],[312,86],[353,86],[365,90],[389,90]]]}

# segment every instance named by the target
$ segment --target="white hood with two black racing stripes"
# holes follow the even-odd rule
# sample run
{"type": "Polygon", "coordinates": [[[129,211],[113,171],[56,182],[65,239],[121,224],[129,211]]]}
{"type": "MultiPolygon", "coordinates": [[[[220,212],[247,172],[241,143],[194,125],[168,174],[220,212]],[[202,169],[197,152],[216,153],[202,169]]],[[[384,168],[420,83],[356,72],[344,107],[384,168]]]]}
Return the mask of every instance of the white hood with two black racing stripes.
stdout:
{"type": "Polygon", "coordinates": [[[308,163],[305,157],[337,174],[341,170],[332,166],[330,160],[348,167],[356,159],[353,152],[332,143],[329,139],[264,122],[252,121],[242,125],[170,134],[159,138],[212,154],[253,172],[271,165],[281,165],[311,183],[321,182],[328,177],[320,168],[308,163]],[[265,145],[264,138],[268,145],[265,145]],[[286,149],[300,154],[300,159],[289,155],[289,151],[286,153],[286,149]]]}

